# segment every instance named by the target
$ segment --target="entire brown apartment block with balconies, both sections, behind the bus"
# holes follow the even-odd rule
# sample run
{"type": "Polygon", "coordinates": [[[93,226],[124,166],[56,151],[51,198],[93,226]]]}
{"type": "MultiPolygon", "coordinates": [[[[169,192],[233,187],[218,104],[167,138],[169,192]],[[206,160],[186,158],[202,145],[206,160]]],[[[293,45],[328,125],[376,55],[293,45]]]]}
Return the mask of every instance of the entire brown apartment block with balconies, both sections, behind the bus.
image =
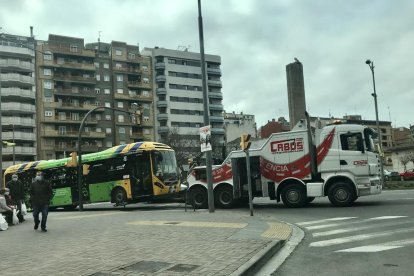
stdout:
{"type": "Polygon", "coordinates": [[[151,62],[137,46],[90,44],[82,38],[49,35],[36,54],[38,155],[58,159],[77,151],[96,152],[131,141],[152,140],[151,62]],[[142,68],[147,68],[144,73],[142,68]],[[145,77],[144,77],[145,76],[145,77]],[[147,91],[146,94],[142,91],[147,91]],[[142,95],[145,94],[145,97],[142,95]],[[123,111],[117,111],[123,110],[123,111]],[[144,123],[147,127],[144,127],[144,123]],[[144,131],[143,129],[147,129],[144,131]]]}

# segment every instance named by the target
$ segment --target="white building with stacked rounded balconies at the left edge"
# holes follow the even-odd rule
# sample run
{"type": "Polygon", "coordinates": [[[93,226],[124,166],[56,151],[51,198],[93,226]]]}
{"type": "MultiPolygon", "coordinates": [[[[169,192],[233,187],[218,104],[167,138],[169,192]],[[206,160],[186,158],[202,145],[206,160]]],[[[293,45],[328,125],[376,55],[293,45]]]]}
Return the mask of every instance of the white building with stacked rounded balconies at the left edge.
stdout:
{"type": "Polygon", "coordinates": [[[0,34],[2,168],[36,159],[35,40],[0,34]]]}

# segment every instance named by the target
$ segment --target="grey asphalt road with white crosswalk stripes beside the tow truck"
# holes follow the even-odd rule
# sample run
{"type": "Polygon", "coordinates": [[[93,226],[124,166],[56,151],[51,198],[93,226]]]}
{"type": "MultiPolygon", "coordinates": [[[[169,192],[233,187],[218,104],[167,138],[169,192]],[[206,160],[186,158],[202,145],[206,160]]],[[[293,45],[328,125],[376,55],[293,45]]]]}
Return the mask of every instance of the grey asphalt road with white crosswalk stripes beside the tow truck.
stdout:
{"type": "Polygon", "coordinates": [[[305,233],[272,275],[414,275],[414,190],[361,197],[347,208],[333,207],[327,198],[300,209],[255,202],[256,214],[305,233]]]}

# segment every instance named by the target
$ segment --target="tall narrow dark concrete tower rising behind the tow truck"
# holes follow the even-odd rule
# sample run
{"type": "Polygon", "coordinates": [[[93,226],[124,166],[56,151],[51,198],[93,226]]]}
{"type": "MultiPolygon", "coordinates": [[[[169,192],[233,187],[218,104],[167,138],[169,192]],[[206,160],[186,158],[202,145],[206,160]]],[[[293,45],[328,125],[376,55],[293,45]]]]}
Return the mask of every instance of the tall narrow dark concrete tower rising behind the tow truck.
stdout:
{"type": "Polygon", "coordinates": [[[290,127],[293,128],[300,119],[305,118],[306,110],[303,67],[297,58],[295,62],[286,65],[286,78],[290,127]]]}

